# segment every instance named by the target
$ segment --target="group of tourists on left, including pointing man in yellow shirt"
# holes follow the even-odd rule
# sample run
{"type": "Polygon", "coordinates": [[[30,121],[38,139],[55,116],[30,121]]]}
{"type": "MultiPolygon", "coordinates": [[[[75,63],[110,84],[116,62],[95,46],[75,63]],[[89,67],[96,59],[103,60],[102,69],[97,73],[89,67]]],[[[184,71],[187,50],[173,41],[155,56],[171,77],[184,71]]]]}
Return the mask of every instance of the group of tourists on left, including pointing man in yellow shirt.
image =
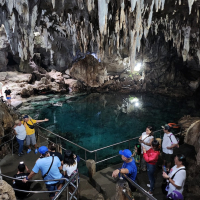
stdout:
{"type": "MultiPolygon", "coordinates": [[[[77,164],[80,158],[73,154],[71,150],[65,151],[63,159],[62,154],[56,152],[56,146],[53,143],[50,143],[48,147],[37,147],[34,124],[46,121],[48,121],[48,119],[34,120],[28,115],[24,115],[22,121],[15,121],[13,129],[17,142],[19,143],[18,156],[21,157],[24,154],[23,148],[25,140],[28,147],[27,154],[31,152],[31,145],[35,148],[35,154],[38,152],[40,153],[40,156],[36,160],[31,171],[24,162],[19,163],[18,172],[14,175],[14,178],[23,180],[13,180],[13,187],[15,189],[29,191],[31,182],[28,182],[28,180],[32,179],[39,171],[41,171],[42,178],[44,180],[49,180],[45,182],[48,191],[60,190],[64,181],[70,179],[71,176],[78,172],[77,164]],[[62,180],[52,181],[54,179],[62,180]]],[[[76,179],[73,179],[72,182],[75,183],[76,179]]],[[[73,190],[72,187],[69,187],[69,189],[73,190]]],[[[27,197],[27,193],[16,191],[16,196],[19,199],[23,199],[27,197]]],[[[49,194],[51,199],[54,196],[55,192],[49,194]]]]}

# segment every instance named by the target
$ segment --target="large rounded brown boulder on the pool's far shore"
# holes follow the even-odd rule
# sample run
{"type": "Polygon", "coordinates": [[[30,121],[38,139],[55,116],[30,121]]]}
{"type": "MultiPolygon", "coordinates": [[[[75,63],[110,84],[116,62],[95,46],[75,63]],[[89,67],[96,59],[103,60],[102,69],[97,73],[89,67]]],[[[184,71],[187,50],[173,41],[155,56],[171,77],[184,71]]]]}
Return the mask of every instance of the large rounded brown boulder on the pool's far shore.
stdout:
{"type": "Polygon", "coordinates": [[[91,55],[73,64],[70,76],[90,87],[99,87],[107,80],[106,67],[91,55]]]}

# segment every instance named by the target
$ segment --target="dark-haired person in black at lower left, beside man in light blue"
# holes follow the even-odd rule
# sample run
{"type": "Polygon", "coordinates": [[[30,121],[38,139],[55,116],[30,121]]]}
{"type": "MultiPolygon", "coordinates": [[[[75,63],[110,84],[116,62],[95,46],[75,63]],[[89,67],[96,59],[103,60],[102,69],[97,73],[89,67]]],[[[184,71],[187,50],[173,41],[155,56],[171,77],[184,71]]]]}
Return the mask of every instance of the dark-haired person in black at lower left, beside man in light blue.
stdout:
{"type": "MultiPolygon", "coordinates": [[[[29,174],[30,174],[30,170],[28,169],[28,167],[24,164],[24,162],[20,162],[18,165],[18,172],[17,172],[17,174],[14,175],[14,178],[24,179],[27,176],[29,176],[29,174]],[[26,173],[25,173],[25,170],[26,170],[26,173]]],[[[15,189],[29,191],[30,186],[31,186],[30,182],[26,184],[26,183],[22,182],[21,180],[19,180],[19,181],[13,180],[13,188],[15,188],[15,189]]],[[[15,195],[19,199],[26,198],[28,194],[29,193],[15,191],[15,195]]]]}

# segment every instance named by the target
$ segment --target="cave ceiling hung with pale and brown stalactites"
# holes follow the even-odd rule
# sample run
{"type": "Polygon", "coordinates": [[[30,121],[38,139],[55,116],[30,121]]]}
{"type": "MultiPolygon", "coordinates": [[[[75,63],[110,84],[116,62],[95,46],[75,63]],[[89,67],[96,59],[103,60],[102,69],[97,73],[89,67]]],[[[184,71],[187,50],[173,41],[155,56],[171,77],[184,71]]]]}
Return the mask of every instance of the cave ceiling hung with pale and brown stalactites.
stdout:
{"type": "Polygon", "coordinates": [[[38,54],[60,71],[86,54],[110,72],[133,71],[137,60],[155,62],[173,48],[198,71],[199,7],[200,0],[0,0],[0,24],[22,71],[38,54]]]}

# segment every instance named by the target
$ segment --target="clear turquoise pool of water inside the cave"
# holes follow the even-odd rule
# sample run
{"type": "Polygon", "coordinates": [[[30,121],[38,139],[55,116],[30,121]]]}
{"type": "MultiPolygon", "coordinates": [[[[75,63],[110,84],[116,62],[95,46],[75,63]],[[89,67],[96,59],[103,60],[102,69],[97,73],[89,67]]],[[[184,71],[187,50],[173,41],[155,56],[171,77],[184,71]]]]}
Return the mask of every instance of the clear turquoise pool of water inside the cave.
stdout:
{"type": "MultiPolygon", "coordinates": [[[[34,119],[48,118],[48,122],[40,125],[88,150],[95,150],[139,136],[148,125],[158,130],[166,123],[177,123],[184,115],[200,116],[197,107],[198,100],[195,99],[95,93],[73,98],[49,95],[41,101],[26,103],[20,111],[34,119]]],[[[51,140],[56,141],[56,138],[51,137],[51,140]]],[[[131,146],[135,142],[131,142],[131,146]]],[[[73,149],[81,157],[85,156],[83,150],[69,143],[62,145],[73,149]]],[[[116,155],[118,150],[128,147],[126,143],[102,150],[97,153],[97,161],[116,155]]],[[[87,158],[94,159],[94,154],[87,153],[87,158]]],[[[98,167],[118,161],[119,158],[113,159],[98,167]]]]}

